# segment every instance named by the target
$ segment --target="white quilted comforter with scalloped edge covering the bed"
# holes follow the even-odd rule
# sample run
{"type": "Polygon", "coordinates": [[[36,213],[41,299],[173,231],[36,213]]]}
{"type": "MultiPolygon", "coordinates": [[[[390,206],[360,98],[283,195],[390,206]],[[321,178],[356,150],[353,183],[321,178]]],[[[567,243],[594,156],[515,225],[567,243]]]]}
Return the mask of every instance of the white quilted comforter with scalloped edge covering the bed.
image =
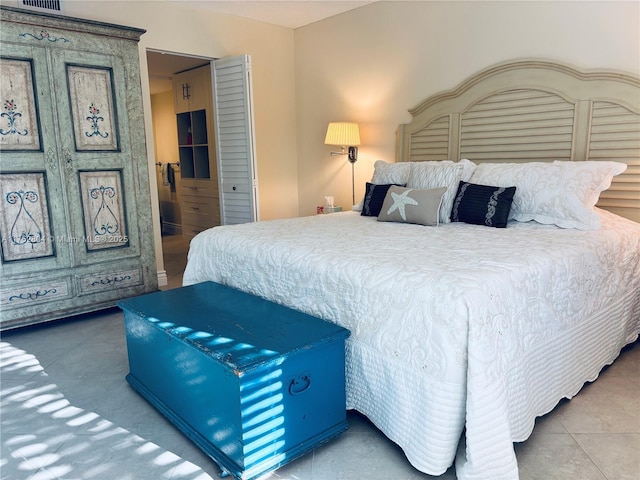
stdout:
{"type": "Polygon", "coordinates": [[[513,442],[640,332],[640,224],[601,215],[597,232],[354,212],[216,227],[191,242],[184,284],[348,328],[347,408],[425,473],[455,458],[459,479],[512,480],[513,442]]]}

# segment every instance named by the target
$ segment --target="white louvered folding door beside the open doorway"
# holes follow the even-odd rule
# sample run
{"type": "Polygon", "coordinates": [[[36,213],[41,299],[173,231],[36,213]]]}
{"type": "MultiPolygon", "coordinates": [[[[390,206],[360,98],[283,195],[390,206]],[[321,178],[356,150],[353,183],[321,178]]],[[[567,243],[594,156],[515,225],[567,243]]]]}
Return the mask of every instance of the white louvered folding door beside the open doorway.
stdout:
{"type": "Polygon", "coordinates": [[[251,61],[213,62],[220,209],[223,225],[258,220],[251,61]]]}

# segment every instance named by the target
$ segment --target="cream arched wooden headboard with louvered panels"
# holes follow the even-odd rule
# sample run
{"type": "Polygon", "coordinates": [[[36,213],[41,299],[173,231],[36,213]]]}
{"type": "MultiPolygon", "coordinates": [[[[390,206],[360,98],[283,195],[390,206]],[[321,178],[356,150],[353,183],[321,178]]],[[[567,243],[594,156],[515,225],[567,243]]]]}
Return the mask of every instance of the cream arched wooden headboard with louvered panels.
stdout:
{"type": "Polygon", "coordinates": [[[599,207],[640,222],[640,77],[538,59],[501,63],[427,98],[400,125],[397,161],[613,160],[599,207]]]}

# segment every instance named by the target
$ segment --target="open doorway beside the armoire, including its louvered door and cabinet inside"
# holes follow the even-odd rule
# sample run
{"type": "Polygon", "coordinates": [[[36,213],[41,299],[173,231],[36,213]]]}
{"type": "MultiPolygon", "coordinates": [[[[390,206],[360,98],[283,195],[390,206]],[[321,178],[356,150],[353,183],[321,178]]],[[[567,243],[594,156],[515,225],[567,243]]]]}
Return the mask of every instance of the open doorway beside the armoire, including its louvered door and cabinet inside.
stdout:
{"type": "Polygon", "coordinates": [[[148,51],[147,62],[163,233],[259,220],[251,57],[148,51]]]}

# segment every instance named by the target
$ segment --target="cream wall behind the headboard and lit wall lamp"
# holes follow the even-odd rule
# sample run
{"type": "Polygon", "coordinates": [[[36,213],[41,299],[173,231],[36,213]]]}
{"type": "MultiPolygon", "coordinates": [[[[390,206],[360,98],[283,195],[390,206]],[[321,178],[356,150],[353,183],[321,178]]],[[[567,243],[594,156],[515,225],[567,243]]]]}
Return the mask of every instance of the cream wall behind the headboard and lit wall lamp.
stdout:
{"type": "Polygon", "coordinates": [[[300,214],[351,204],[351,169],[327,123],[360,124],[356,201],[394,161],[409,108],[495,63],[541,57],[640,74],[639,2],[377,2],[295,31],[300,214]]]}

